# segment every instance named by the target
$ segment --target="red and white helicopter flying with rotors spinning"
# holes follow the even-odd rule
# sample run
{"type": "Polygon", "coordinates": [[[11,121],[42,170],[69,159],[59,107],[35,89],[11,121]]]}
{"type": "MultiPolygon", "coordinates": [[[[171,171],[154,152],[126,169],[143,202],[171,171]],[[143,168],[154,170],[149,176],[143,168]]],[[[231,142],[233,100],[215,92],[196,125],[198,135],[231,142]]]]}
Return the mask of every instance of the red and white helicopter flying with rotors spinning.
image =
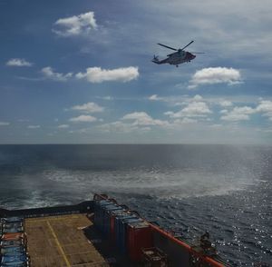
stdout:
{"type": "MultiPolygon", "coordinates": [[[[193,42],[194,41],[191,41],[191,42],[189,42],[189,44],[192,44],[193,42]]],[[[204,54],[202,52],[192,52],[194,54],[191,54],[191,53],[189,53],[187,51],[184,51],[184,49],[187,46],[189,46],[189,44],[186,44],[183,48],[179,48],[179,49],[170,47],[170,46],[165,45],[165,44],[159,44],[160,46],[169,48],[169,49],[177,51],[177,52],[167,54],[168,57],[165,58],[165,59],[162,59],[162,60],[159,60],[158,55],[154,55],[154,57],[153,57],[153,59],[151,61],[153,63],[155,63],[155,64],[167,64],[167,63],[168,64],[175,64],[176,67],[178,67],[179,64],[190,62],[191,60],[193,60],[196,57],[195,54],[204,54]]]]}

